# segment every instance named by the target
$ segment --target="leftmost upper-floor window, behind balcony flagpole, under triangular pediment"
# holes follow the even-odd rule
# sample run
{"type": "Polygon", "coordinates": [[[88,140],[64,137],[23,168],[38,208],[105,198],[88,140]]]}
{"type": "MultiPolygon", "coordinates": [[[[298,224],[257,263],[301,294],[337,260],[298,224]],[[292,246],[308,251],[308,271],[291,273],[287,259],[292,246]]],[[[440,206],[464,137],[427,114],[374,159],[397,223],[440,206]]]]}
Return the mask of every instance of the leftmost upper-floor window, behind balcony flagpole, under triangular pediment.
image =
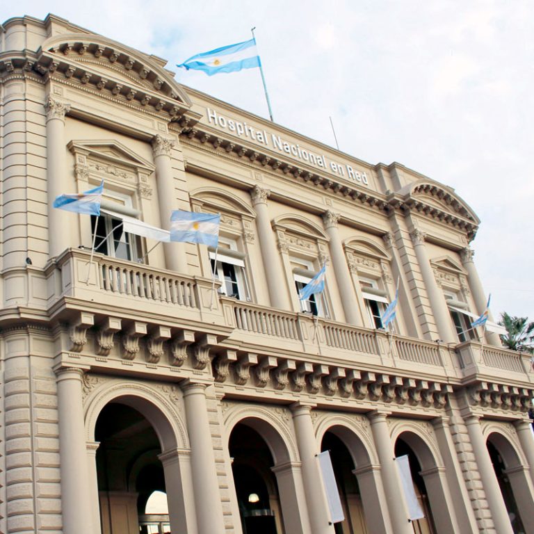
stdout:
{"type": "Polygon", "coordinates": [[[120,214],[137,216],[138,213],[131,208],[131,198],[120,193],[106,191],[106,197],[111,200],[102,200],[101,215],[97,218],[91,216],[91,234],[95,234],[95,252],[118,259],[135,261],[138,259],[136,236],[127,234],[122,228],[120,214]],[[116,213],[114,213],[116,212],[116,213]],[[115,216],[114,216],[115,215],[115,216]]]}

